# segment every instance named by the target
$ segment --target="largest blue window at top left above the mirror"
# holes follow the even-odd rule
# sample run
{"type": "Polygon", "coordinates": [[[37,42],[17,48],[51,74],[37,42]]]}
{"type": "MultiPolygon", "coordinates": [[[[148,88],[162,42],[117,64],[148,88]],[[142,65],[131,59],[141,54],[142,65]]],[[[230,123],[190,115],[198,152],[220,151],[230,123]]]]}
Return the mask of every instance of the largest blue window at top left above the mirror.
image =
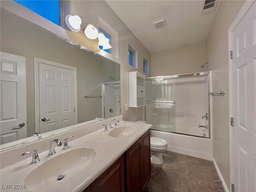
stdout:
{"type": "Polygon", "coordinates": [[[60,25],[60,1],[59,0],[13,0],[14,2],[28,8],[38,15],[60,25]]]}

